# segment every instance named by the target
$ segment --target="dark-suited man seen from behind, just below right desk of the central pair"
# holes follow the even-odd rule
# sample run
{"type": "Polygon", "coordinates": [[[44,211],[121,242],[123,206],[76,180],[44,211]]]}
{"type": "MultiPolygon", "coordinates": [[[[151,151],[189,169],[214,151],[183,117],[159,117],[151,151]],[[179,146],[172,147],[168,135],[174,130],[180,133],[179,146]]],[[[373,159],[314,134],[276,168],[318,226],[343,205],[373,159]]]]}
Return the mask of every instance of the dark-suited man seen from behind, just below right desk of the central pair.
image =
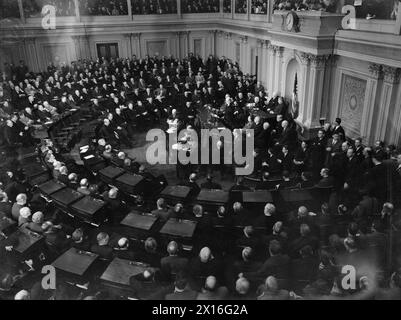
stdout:
{"type": "Polygon", "coordinates": [[[178,256],[179,247],[178,243],[171,241],[167,246],[168,257],[164,257],[160,261],[161,273],[163,278],[170,280],[177,274],[186,272],[188,267],[188,259],[178,256]]]}

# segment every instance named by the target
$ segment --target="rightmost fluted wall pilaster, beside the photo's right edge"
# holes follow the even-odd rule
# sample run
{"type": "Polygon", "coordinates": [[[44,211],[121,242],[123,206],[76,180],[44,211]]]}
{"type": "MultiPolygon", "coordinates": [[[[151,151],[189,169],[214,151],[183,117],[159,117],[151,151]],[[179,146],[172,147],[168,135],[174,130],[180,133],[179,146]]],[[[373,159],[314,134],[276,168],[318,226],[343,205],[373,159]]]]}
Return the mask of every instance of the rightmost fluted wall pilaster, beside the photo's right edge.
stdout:
{"type": "Polygon", "coordinates": [[[379,104],[381,117],[379,118],[380,122],[378,122],[376,136],[377,139],[393,143],[393,140],[388,138],[394,135],[400,127],[400,123],[397,121],[400,104],[396,104],[397,89],[400,82],[400,69],[384,66],[383,75],[382,96],[379,104]]]}

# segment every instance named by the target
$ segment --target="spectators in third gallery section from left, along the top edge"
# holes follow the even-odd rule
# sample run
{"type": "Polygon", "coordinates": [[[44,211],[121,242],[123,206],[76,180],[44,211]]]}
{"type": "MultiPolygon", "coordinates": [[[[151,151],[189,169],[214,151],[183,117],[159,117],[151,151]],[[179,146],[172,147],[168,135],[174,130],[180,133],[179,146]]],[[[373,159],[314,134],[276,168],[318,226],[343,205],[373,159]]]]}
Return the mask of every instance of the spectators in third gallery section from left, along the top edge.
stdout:
{"type": "Polygon", "coordinates": [[[126,0],[82,0],[79,11],[82,16],[125,16],[128,5],[126,0]]]}

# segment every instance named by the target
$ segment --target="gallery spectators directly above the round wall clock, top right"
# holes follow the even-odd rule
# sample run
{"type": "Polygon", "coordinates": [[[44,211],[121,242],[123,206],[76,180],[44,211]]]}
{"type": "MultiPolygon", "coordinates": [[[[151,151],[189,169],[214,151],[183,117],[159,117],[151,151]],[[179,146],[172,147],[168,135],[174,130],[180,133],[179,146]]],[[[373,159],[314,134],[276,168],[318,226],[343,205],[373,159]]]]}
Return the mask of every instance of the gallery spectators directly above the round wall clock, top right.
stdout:
{"type": "Polygon", "coordinates": [[[339,12],[339,0],[275,0],[274,10],[317,10],[336,13],[339,12]]]}

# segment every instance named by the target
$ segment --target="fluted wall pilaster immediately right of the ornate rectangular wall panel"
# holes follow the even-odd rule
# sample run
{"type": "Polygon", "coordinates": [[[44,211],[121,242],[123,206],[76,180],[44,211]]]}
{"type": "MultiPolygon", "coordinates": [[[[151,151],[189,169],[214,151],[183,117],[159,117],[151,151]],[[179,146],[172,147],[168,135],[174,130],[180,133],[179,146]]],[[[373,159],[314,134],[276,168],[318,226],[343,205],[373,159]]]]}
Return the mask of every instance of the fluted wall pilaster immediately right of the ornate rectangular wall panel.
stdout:
{"type": "MultiPolygon", "coordinates": [[[[366,139],[365,143],[370,144],[373,143],[375,140],[375,133],[374,133],[374,128],[375,124],[377,123],[376,119],[373,121],[373,117],[375,114],[375,106],[376,106],[376,100],[378,99],[379,92],[380,92],[380,85],[381,85],[381,79],[382,79],[382,66],[379,64],[372,63],[369,66],[369,79],[368,83],[366,86],[366,102],[365,102],[365,108],[366,108],[366,115],[365,119],[362,119],[362,124],[361,124],[361,135],[363,138],[366,139]]],[[[378,112],[380,113],[380,112],[378,112]]]]}

